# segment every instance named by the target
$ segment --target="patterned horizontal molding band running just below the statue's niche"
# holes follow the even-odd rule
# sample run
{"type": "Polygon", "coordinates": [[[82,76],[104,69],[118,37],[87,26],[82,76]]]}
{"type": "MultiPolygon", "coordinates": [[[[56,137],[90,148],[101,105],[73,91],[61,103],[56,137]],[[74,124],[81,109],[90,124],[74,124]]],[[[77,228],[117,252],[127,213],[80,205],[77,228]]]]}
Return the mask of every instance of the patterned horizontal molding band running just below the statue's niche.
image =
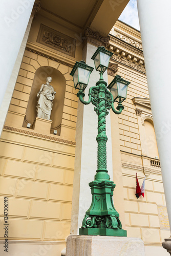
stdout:
{"type": "Polygon", "coordinates": [[[31,135],[31,136],[34,136],[34,137],[37,137],[37,138],[62,142],[62,143],[70,144],[70,145],[76,145],[75,141],[64,140],[64,139],[60,139],[58,137],[53,137],[53,136],[49,136],[49,135],[45,135],[45,134],[35,133],[35,132],[30,131],[30,130],[19,129],[19,128],[7,126],[7,125],[4,126],[4,130],[16,132],[16,133],[22,133],[22,134],[26,134],[26,135],[31,135]]]}

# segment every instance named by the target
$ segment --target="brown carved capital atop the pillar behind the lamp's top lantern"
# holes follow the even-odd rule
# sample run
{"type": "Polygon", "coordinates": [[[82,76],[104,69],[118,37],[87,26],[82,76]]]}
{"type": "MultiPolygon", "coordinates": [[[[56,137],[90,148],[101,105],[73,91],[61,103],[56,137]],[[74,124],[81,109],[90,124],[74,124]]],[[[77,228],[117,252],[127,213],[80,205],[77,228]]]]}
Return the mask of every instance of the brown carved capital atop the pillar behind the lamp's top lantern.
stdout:
{"type": "Polygon", "coordinates": [[[90,42],[90,44],[95,45],[97,47],[99,46],[108,47],[109,40],[110,40],[109,36],[102,36],[98,31],[94,32],[92,29],[88,27],[85,29],[83,45],[87,44],[87,42],[90,42]]]}

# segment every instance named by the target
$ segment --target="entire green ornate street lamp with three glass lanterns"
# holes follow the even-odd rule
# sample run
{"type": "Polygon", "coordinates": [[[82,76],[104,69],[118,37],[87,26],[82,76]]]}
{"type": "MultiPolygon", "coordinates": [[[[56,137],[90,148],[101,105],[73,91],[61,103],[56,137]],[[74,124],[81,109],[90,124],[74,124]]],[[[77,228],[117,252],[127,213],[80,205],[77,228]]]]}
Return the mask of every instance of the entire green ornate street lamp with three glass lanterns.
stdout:
{"type": "Polygon", "coordinates": [[[105,118],[111,108],[115,114],[122,112],[124,109],[122,101],[126,98],[127,86],[130,82],[125,81],[120,76],[115,76],[108,86],[111,92],[107,89],[107,83],[103,80],[103,73],[108,69],[112,55],[104,47],[98,47],[94,53],[92,59],[96,70],[100,72],[100,80],[96,82],[96,86],[89,89],[88,101],[83,100],[84,90],[88,85],[93,68],[86,65],[84,61],[76,62],[70,74],[73,76],[75,89],[79,89],[77,96],[80,101],[83,104],[92,102],[95,106],[94,111],[98,116],[97,170],[94,181],[89,183],[92,203],[86,211],[79,234],[126,237],[126,230],[122,229],[119,214],[113,204],[115,184],[110,180],[106,169],[106,142],[108,137],[105,132],[105,118]],[[114,108],[115,101],[118,102],[117,110],[114,108]]]}

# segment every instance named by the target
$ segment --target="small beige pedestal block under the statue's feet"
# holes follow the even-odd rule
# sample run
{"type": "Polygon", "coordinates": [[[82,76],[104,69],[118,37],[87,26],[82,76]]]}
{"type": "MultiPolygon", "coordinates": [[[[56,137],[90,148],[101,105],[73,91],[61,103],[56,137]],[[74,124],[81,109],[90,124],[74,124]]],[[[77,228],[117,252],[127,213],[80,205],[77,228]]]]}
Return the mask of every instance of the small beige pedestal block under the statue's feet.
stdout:
{"type": "Polygon", "coordinates": [[[42,134],[50,134],[52,120],[46,120],[36,117],[33,123],[33,129],[35,132],[42,134]]]}

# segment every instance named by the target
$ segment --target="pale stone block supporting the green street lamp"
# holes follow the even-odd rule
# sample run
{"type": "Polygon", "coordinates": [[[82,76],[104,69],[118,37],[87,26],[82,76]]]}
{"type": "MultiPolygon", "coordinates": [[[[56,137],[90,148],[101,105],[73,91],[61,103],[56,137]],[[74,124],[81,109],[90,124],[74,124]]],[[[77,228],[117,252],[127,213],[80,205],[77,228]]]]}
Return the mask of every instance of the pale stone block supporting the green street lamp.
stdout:
{"type": "Polygon", "coordinates": [[[67,238],[66,256],[145,256],[144,243],[139,238],[81,236],[67,238]]]}

